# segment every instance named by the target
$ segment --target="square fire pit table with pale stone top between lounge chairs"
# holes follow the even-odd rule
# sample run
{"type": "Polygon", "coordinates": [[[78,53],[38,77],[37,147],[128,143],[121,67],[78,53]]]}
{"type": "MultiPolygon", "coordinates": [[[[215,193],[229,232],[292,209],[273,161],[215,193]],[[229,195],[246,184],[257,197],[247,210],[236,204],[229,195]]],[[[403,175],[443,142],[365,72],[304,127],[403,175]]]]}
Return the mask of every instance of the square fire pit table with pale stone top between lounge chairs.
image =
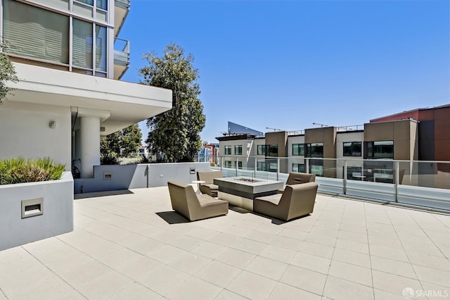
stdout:
{"type": "Polygon", "coordinates": [[[283,188],[281,181],[243,176],[215,178],[214,185],[219,186],[217,198],[229,201],[229,204],[248,211],[253,211],[255,198],[276,194],[278,189],[283,188]]]}

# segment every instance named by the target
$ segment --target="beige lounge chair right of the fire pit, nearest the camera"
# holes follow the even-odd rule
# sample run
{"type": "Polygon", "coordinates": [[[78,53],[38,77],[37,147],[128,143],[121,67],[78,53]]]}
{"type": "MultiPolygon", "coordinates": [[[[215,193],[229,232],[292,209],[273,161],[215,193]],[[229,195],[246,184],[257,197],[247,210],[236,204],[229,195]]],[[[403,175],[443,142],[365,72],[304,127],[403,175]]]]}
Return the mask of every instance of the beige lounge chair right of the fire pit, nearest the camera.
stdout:
{"type": "Polygon", "coordinates": [[[287,185],[283,194],[256,198],[253,211],[285,221],[308,215],[314,209],[318,186],[316,182],[287,185]]]}

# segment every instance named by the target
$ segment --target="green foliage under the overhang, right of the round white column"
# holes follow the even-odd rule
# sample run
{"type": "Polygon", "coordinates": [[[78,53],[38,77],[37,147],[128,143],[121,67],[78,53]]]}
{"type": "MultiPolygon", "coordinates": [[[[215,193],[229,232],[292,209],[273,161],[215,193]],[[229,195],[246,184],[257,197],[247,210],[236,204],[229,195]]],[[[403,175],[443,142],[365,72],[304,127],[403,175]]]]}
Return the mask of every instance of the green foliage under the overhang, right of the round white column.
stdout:
{"type": "Polygon", "coordinates": [[[117,158],[130,157],[139,152],[142,133],[139,125],[134,124],[100,139],[102,165],[115,165],[117,158]]]}

